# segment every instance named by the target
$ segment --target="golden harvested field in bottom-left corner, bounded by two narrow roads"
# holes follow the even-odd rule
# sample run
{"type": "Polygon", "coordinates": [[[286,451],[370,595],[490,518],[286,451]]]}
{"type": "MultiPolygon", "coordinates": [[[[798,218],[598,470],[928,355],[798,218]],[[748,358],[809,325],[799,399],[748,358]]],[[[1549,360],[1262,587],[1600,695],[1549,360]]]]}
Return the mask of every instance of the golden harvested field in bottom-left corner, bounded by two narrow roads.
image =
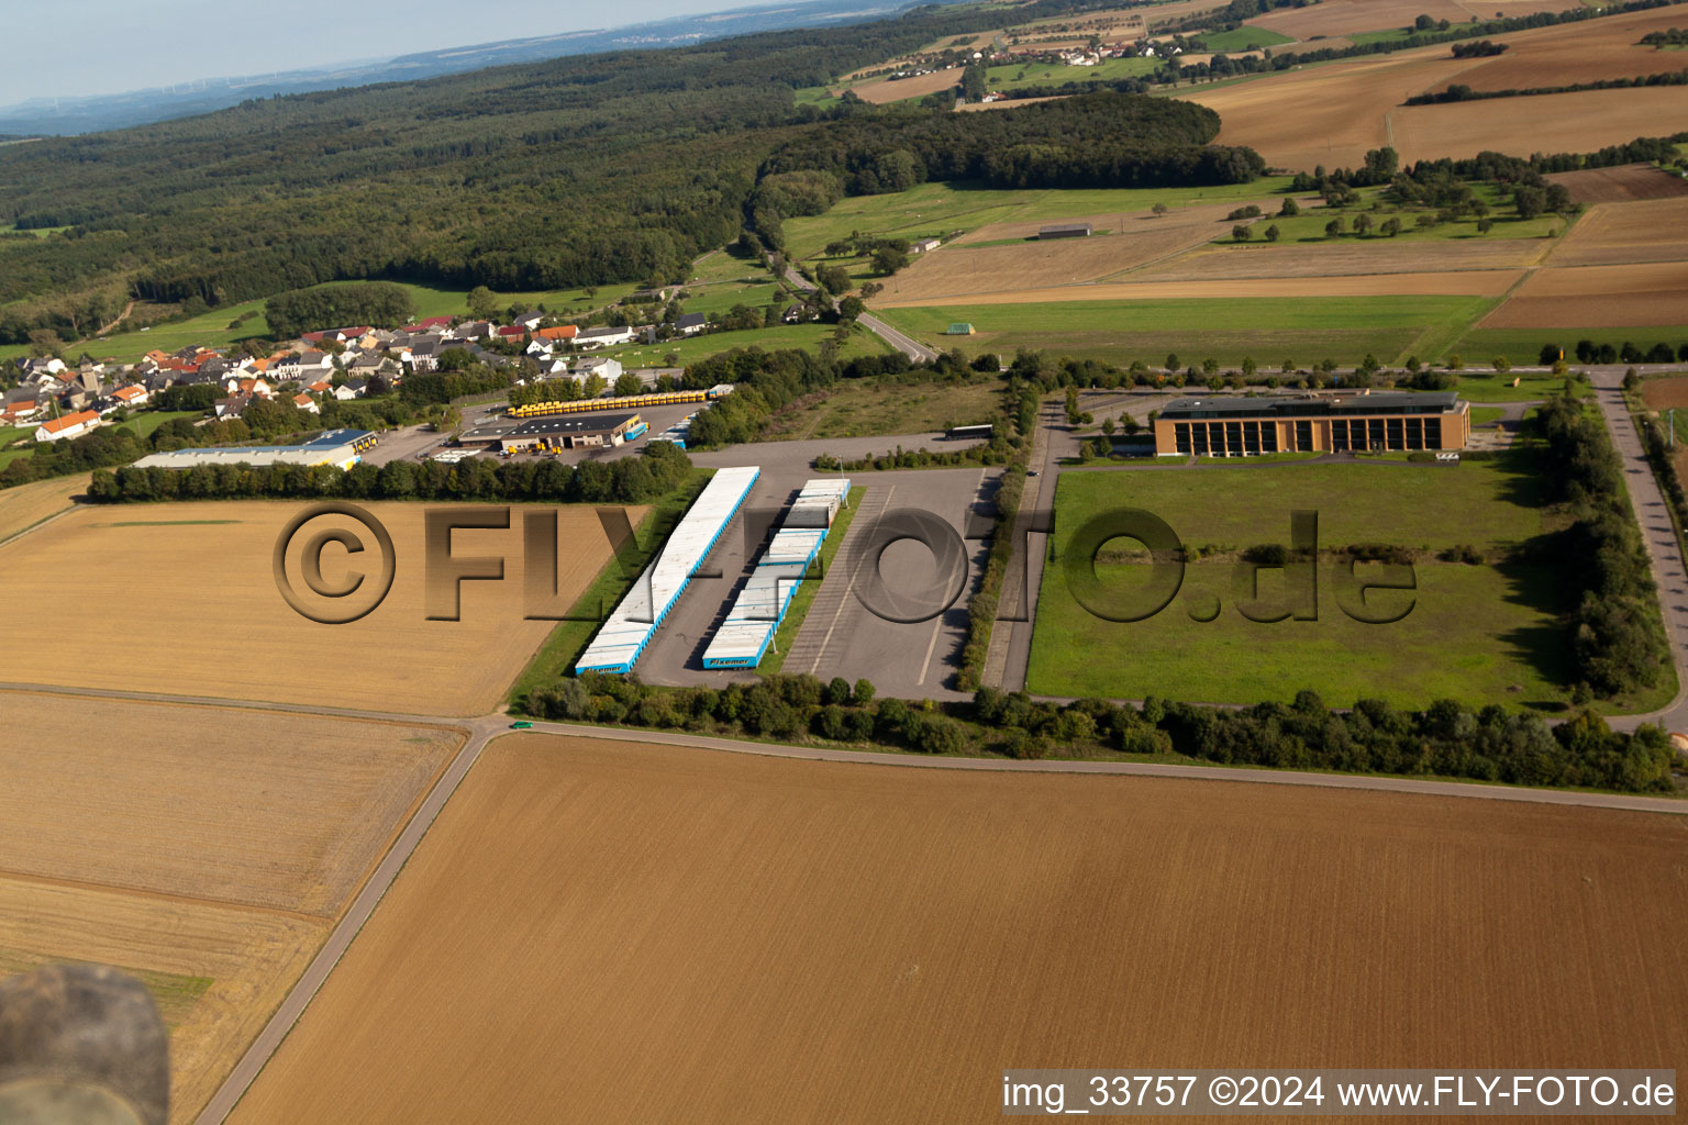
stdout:
{"type": "Polygon", "coordinates": [[[0,973],[98,961],[170,1025],[191,1122],[380,862],[459,732],[0,693],[0,973]]]}

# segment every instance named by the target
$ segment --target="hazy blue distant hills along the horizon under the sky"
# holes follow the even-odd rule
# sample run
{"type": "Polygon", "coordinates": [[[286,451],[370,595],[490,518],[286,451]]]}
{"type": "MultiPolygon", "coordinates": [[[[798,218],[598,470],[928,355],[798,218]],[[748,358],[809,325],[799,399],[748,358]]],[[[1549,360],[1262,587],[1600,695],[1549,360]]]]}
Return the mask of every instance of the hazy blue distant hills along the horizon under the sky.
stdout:
{"type": "MultiPolygon", "coordinates": [[[[960,0],[935,2],[957,3],[960,0]]],[[[731,8],[728,12],[685,15],[608,30],[532,35],[299,71],[245,74],[238,78],[203,76],[174,86],[155,86],[122,94],[32,98],[14,106],[0,106],[0,140],[8,140],[10,137],[7,135],[74,135],[150,125],[196,113],[211,113],[252,98],[270,98],[275,94],[343,89],[370,86],[373,83],[403,83],[510,62],[538,62],[571,54],[680,47],[711,39],[744,35],[748,32],[873,20],[912,7],[915,5],[906,0],[798,0],[798,3],[787,3],[776,8],[731,8]]]]}

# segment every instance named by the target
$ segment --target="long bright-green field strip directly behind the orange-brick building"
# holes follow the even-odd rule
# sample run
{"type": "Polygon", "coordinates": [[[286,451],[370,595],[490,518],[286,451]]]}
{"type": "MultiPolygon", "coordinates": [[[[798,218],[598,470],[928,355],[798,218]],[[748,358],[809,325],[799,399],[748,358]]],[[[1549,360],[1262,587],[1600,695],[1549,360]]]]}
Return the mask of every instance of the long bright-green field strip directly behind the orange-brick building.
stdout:
{"type": "Polygon", "coordinates": [[[1133,359],[1160,364],[1166,353],[1183,363],[1214,358],[1241,364],[1252,358],[1278,366],[1335,359],[1357,363],[1366,353],[1382,363],[1409,354],[1426,329],[1465,324],[1494,302],[1482,297],[1249,297],[1236,300],[1074,300],[1026,305],[942,305],[886,309],[876,315],[942,349],[960,347],[1013,354],[1020,347],[1053,356],[1133,359]],[[974,336],[949,337],[944,329],[967,320],[974,336]]]}

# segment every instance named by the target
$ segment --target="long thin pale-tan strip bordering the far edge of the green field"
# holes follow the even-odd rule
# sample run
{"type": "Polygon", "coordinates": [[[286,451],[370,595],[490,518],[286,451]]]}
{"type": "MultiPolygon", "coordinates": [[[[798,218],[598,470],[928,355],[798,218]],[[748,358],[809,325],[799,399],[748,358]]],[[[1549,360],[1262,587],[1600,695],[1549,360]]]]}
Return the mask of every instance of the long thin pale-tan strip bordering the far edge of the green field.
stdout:
{"type": "Polygon", "coordinates": [[[1014,288],[923,300],[874,299],[874,309],[918,305],[1038,305],[1072,300],[1185,300],[1205,297],[1499,297],[1521,270],[1453,270],[1447,273],[1379,273],[1352,277],[1263,277],[1202,282],[1112,282],[1014,288]]]}

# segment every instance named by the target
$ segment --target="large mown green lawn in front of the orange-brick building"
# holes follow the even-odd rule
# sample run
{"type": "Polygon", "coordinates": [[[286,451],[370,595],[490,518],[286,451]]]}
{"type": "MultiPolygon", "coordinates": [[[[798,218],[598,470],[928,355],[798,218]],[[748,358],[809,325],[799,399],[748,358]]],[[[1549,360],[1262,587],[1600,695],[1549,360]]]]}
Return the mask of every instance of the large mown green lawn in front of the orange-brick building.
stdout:
{"type": "MultiPolygon", "coordinates": [[[[1069,590],[1060,563],[1077,528],[1114,506],[1155,513],[1190,548],[1288,545],[1290,511],[1313,509],[1327,550],[1474,543],[1499,553],[1543,531],[1539,499],[1526,454],[1455,469],[1361,462],[1065,474],[1055,504],[1057,562],[1045,567],[1028,690],[1254,703],[1288,702],[1312,688],[1334,705],[1367,697],[1404,707],[1457,698],[1558,710],[1568,698],[1556,617],[1566,609],[1566,582],[1545,567],[1421,562],[1416,592],[1371,595],[1396,611],[1411,597],[1411,612],[1394,624],[1362,624],[1339,604],[1327,557],[1318,570],[1317,621],[1263,624],[1237,611],[1231,562],[1190,563],[1178,597],[1138,622],[1090,616],[1069,590]],[[1219,616],[1192,619],[1214,597],[1219,616]]],[[[1099,570],[1121,589],[1144,573],[1129,563],[1099,570]]],[[[1283,572],[1264,572],[1259,594],[1278,600],[1283,572]]],[[[1347,599],[1352,604],[1352,594],[1347,599]]]]}

